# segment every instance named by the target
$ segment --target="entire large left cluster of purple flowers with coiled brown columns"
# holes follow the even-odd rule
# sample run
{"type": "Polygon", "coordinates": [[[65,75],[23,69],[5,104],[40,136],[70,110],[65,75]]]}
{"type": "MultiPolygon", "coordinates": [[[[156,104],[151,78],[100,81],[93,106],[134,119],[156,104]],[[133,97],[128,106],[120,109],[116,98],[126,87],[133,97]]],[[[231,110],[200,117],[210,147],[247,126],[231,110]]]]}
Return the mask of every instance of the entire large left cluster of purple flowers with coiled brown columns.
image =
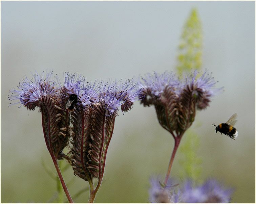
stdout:
{"type": "Polygon", "coordinates": [[[58,159],[66,158],[75,175],[86,181],[102,179],[115,117],[141,97],[140,85],[133,79],[86,82],[82,75],[70,72],[64,73],[62,84],[57,75],[57,83],[50,79],[52,72],[45,78],[43,74],[22,79],[8,99],[11,103],[18,99],[29,110],[39,107],[48,150],[58,159]],[[66,108],[71,94],[78,98],[73,110],[66,108]],[[66,146],[71,149],[67,155],[66,146]]]}

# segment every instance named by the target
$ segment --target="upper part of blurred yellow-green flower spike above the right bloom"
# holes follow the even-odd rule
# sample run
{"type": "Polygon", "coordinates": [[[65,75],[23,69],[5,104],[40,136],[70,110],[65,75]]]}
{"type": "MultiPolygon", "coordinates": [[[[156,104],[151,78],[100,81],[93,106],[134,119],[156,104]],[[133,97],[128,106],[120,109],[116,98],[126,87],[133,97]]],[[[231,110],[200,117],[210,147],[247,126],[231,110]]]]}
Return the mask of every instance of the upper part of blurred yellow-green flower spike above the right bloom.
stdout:
{"type": "Polygon", "coordinates": [[[192,9],[187,19],[179,44],[176,69],[179,75],[190,72],[191,69],[200,69],[202,65],[202,28],[197,10],[192,9]]]}

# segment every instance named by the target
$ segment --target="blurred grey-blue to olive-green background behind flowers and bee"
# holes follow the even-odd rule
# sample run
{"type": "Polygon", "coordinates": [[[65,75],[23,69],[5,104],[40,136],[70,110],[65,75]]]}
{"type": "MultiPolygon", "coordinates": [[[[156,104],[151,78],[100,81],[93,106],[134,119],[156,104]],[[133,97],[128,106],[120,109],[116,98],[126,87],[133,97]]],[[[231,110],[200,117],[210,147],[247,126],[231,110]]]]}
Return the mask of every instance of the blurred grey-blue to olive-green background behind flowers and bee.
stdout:
{"type": "MultiPolygon", "coordinates": [[[[190,131],[199,138],[200,178],[234,187],[232,203],[255,203],[255,2],[1,2],[1,202],[55,202],[55,170],[41,114],[8,107],[8,91],[35,70],[128,79],[176,71],[184,23],[196,8],[202,23],[202,69],[225,92],[197,111],[190,131]],[[215,132],[237,112],[239,136],[215,132]]],[[[184,135],[186,141],[186,134],[184,135]]],[[[183,140],[182,140],[183,142],[183,140]]],[[[181,142],[181,143],[182,143],[181,142]]],[[[136,102],[116,118],[97,203],[146,203],[149,178],[165,175],[174,140],[153,107],[136,102]]],[[[182,144],[181,144],[182,145],[182,144]]],[[[183,167],[176,154],[171,176],[183,167]]],[[[65,166],[65,162],[62,164],[65,166]]],[[[63,173],[75,195],[88,183],[63,173]]],[[[63,195],[64,202],[66,201],[63,195]]],[[[74,198],[87,202],[88,191],[74,198]]]]}

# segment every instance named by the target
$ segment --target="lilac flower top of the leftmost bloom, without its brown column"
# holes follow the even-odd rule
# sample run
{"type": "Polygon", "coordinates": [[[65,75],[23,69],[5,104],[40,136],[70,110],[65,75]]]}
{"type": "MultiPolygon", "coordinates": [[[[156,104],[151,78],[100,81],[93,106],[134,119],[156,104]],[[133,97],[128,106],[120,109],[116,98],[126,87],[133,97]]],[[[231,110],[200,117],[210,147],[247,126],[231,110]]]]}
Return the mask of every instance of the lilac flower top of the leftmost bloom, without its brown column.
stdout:
{"type": "Polygon", "coordinates": [[[45,78],[43,75],[44,72],[41,74],[34,74],[33,78],[30,80],[27,77],[22,78],[22,81],[19,82],[19,85],[17,86],[18,89],[16,90],[14,88],[9,91],[12,94],[8,97],[8,99],[10,101],[18,99],[20,103],[27,109],[34,110],[36,106],[39,106],[39,102],[42,96],[50,96],[57,93],[55,82],[50,80],[52,71],[46,73],[45,78]]]}

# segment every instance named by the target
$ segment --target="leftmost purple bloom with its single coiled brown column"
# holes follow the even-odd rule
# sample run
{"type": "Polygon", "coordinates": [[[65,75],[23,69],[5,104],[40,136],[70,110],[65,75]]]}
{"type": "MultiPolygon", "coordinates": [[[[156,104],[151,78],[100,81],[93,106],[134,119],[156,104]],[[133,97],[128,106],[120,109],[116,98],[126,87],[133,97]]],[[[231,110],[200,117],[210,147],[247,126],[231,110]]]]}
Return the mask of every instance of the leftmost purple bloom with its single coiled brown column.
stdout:
{"type": "Polygon", "coordinates": [[[28,80],[26,77],[19,83],[20,90],[13,89],[9,100],[19,99],[20,103],[29,110],[39,107],[42,113],[42,125],[45,142],[48,150],[56,158],[65,157],[62,150],[67,145],[65,119],[62,116],[60,108],[59,89],[56,88],[56,82],[51,81],[52,72],[46,73],[46,77],[41,74],[35,74],[34,80],[28,80]]]}

